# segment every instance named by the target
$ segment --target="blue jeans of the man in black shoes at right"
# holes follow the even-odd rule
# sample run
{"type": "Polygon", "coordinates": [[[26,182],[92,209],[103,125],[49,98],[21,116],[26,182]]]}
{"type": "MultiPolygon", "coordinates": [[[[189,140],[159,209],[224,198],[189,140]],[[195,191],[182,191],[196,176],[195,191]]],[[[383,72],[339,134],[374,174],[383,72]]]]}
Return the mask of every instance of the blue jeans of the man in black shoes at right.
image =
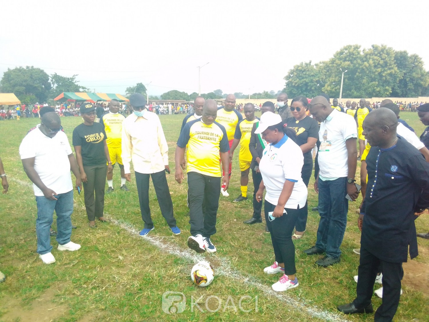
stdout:
{"type": "Polygon", "coordinates": [[[319,228],[316,247],[332,258],[341,255],[340,246],[347,224],[347,177],[331,181],[319,178],[319,228]]]}

